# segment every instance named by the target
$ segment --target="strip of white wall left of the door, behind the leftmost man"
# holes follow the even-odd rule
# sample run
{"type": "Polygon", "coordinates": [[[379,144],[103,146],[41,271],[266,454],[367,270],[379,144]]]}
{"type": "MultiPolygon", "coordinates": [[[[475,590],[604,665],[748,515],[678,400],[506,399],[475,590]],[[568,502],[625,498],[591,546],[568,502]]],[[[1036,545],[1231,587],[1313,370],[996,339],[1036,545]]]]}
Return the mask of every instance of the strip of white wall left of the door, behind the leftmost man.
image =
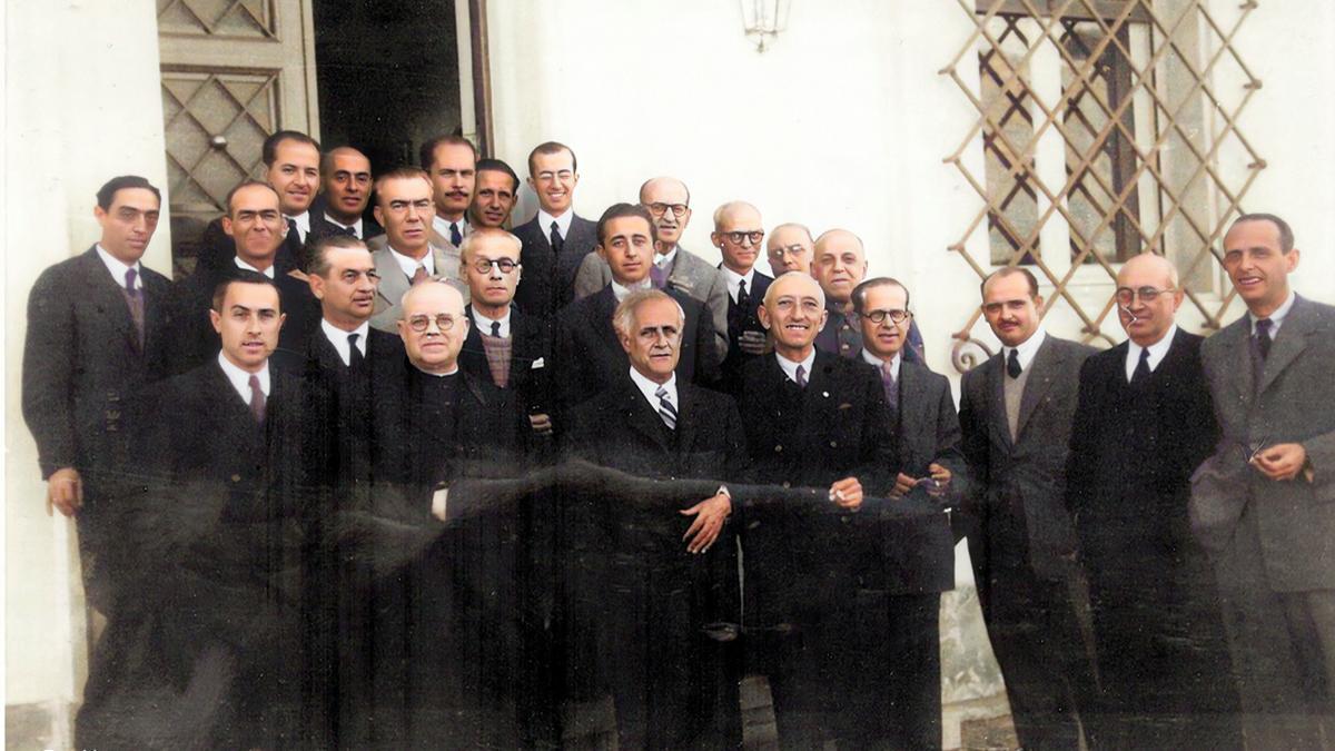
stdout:
{"type": "MultiPolygon", "coordinates": [[[[83,595],[73,524],[45,514],[20,414],[25,307],[43,269],[96,242],[101,183],[166,188],[158,27],[152,0],[7,0],[4,13],[5,702],[57,707],[79,691],[83,595]]],[[[146,258],[164,273],[166,203],[146,258]]]]}

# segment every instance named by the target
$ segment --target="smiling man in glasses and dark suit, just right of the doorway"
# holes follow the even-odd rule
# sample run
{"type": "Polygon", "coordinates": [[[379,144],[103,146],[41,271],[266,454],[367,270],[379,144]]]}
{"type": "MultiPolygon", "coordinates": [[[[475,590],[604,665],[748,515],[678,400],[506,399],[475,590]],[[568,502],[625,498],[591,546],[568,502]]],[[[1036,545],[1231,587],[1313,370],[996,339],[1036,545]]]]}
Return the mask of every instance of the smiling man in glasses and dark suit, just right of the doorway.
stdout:
{"type": "Polygon", "coordinates": [[[594,223],[570,206],[578,183],[579,164],[569,146],[547,142],[529,154],[529,187],[538,194],[538,214],[514,229],[523,243],[519,262],[527,270],[514,302],[542,321],[574,299],[579,263],[598,245],[594,223]]]}

